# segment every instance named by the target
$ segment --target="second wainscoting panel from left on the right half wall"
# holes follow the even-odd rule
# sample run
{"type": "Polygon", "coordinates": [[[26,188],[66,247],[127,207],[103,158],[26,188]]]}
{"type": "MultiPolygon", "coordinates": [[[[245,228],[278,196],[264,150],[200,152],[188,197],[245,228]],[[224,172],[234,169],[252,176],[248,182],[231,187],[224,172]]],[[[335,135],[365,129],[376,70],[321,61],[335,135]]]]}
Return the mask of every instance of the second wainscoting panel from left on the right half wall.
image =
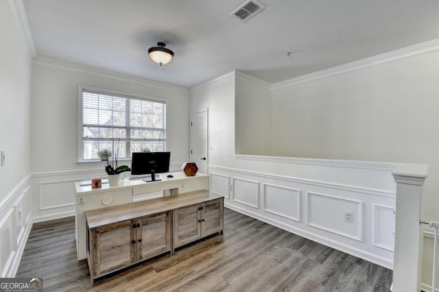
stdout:
{"type": "Polygon", "coordinates": [[[233,178],[233,201],[259,208],[259,182],[233,178]]]}

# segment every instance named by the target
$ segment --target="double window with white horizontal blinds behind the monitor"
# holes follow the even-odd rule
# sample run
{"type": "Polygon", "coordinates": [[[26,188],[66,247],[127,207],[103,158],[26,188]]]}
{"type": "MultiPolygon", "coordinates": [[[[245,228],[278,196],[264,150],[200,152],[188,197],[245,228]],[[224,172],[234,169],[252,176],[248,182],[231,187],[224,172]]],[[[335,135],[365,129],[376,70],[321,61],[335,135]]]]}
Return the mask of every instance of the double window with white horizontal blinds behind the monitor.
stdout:
{"type": "Polygon", "coordinates": [[[165,151],[165,101],[80,90],[80,161],[98,160],[102,149],[117,153],[118,159],[130,159],[132,152],[165,151]]]}

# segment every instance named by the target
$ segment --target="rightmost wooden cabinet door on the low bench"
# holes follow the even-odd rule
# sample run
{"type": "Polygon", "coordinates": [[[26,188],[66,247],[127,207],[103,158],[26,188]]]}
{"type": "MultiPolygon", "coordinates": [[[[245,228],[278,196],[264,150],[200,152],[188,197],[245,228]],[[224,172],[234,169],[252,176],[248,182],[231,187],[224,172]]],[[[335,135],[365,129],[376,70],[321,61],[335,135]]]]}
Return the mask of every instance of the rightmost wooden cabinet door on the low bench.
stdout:
{"type": "Polygon", "coordinates": [[[223,199],[214,199],[209,202],[204,202],[204,206],[202,208],[201,217],[201,235],[207,236],[210,234],[214,234],[216,232],[220,232],[224,227],[224,219],[223,219],[223,199]]]}

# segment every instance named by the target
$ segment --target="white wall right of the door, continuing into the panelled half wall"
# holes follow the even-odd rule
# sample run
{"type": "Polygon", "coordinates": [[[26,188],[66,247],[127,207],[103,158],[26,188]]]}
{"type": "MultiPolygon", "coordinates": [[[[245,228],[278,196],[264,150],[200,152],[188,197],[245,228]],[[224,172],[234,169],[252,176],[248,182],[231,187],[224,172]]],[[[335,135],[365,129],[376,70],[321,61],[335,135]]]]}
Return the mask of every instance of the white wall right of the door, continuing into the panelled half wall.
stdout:
{"type": "Polygon", "coordinates": [[[228,73],[191,88],[191,111],[209,108],[210,190],[227,208],[392,268],[397,165],[235,154],[245,82],[228,73]]]}

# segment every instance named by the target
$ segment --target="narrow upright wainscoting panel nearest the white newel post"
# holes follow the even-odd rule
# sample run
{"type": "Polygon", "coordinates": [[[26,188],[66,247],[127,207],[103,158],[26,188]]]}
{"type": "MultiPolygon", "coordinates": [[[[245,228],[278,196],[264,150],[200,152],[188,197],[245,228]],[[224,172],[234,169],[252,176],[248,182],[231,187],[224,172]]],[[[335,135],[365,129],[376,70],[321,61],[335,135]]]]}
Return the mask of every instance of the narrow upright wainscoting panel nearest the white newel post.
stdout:
{"type": "Polygon", "coordinates": [[[395,216],[392,207],[373,204],[373,245],[394,251],[395,216]]]}

